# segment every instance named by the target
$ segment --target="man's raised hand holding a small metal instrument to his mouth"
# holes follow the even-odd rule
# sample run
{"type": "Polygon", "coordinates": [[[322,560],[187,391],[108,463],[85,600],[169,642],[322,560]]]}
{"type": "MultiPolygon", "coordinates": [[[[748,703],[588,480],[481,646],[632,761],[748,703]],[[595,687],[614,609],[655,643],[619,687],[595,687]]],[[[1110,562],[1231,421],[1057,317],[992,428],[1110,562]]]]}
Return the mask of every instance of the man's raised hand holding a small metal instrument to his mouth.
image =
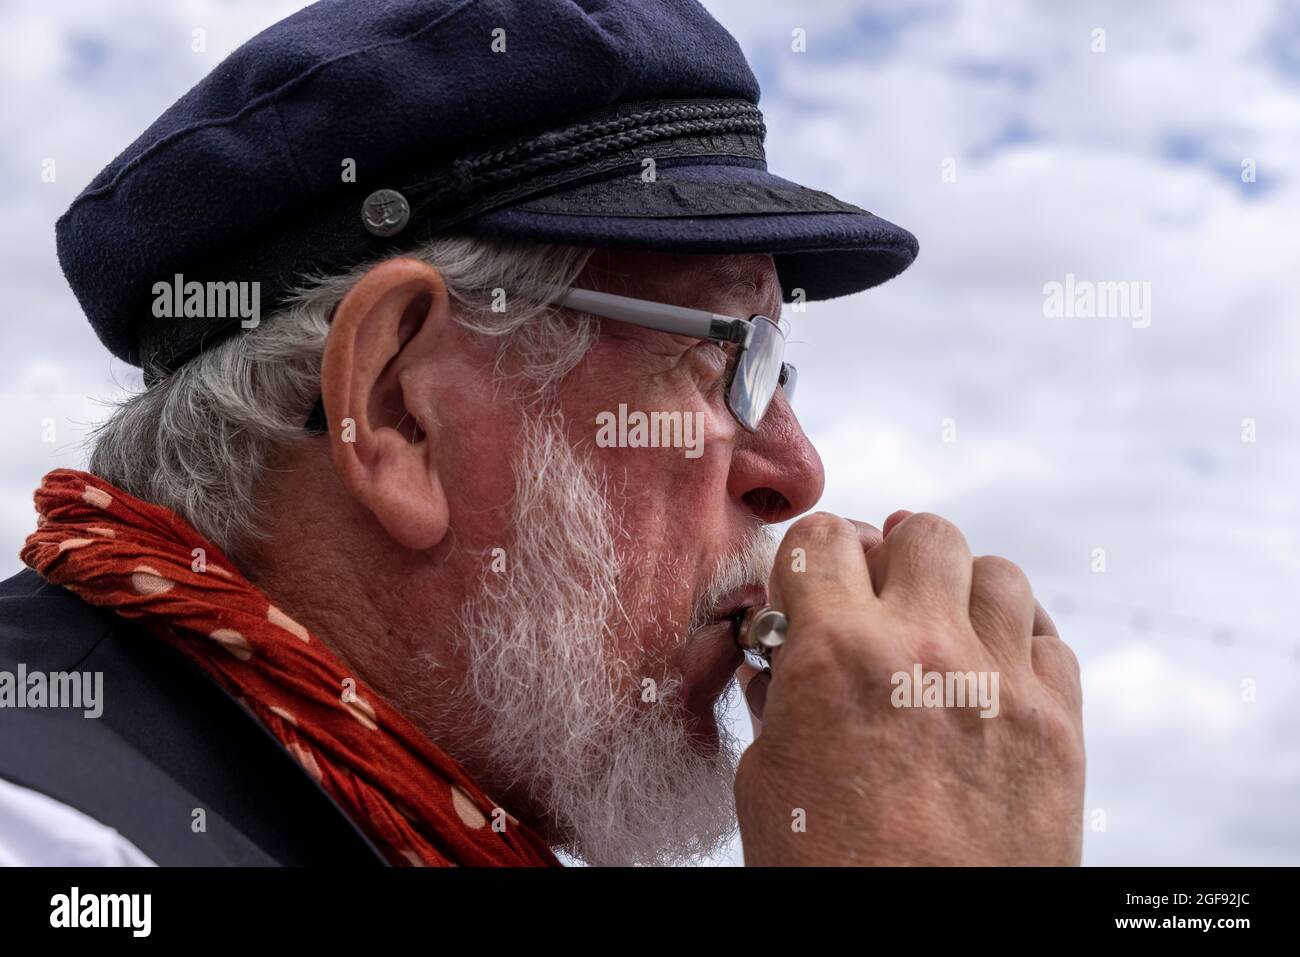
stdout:
{"type": "Polygon", "coordinates": [[[1079,664],[1017,566],[972,560],[936,515],[896,512],[881,538],[816,514],[768,593],[790,632],[746,689],[762,733],[736,776],[745,863],[1079,863],[1079,664]],[[918,664],[997,672],[996,716],[896,707],[913,692],[893,676],[918,664]]]}

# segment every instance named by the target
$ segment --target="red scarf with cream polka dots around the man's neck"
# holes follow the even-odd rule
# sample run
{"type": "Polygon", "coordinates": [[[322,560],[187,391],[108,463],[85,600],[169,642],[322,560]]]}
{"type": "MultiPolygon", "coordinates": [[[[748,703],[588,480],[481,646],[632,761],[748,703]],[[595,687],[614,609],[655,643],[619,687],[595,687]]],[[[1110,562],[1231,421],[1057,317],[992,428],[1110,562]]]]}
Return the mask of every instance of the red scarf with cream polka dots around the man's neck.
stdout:
{"type": "Polygon", "coordinates": [[[166,508],[60,468],[22,560],[240,700],[394,865],[558,866],[532,830],[166,508]]]}

